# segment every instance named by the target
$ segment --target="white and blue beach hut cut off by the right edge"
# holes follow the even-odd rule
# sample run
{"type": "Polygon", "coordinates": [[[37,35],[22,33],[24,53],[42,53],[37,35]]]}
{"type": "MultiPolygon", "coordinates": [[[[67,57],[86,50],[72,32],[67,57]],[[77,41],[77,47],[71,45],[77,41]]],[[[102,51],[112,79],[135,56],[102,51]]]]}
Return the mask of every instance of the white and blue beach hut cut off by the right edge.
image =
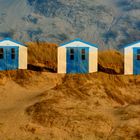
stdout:
{"type": "Polygon", "coordinates": [[[140,41],[124,47],[124,73],[140,74],[140,41]]]}

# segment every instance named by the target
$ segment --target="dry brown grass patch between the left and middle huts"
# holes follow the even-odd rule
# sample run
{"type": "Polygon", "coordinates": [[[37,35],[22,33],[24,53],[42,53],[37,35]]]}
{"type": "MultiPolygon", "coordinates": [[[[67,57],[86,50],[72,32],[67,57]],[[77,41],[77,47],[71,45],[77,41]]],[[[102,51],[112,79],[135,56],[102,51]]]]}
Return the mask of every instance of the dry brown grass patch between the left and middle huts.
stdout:
{"type": "Polygon", "coordinates": [[[28,42],[28,64],[57,68],[57,45],[45,42],[28,42]]]}

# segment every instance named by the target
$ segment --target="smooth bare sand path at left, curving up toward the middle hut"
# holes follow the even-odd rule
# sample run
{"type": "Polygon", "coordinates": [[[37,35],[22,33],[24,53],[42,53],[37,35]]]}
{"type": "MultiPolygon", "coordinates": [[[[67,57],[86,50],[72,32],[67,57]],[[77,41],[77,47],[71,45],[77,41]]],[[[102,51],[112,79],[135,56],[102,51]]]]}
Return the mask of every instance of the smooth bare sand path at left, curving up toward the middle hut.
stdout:
{"type": "Polygon", "coordinates": [[[34,86],[26,88],[11,80],[6,80],[5,85],[0,86],[0,140],[25,140],[36,137],[24,130],[31,123],[25,109],[39,101],[42,92],[54,87],[55,82],[58,83],[55,81],[55,74],[43,74],[41,78],[35,79],[38,78],[40,84],[35,83],[34,86]]]}

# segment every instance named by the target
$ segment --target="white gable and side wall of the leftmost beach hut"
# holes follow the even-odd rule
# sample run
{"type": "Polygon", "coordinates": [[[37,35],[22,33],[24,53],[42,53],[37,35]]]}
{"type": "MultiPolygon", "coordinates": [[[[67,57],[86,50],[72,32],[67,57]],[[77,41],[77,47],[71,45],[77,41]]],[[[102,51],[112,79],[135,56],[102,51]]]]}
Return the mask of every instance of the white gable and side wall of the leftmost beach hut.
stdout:
{"type": "Polygon", "coordinates": [[[19,47],[19,59],[18,59],[18,65],[19,69],[27,69],[27,47],[17,44],[15,42],[12,42],[10,40],[5,40],[0,42],[0,46],[6,47],[6,46],[17,46],[19,47]]]}

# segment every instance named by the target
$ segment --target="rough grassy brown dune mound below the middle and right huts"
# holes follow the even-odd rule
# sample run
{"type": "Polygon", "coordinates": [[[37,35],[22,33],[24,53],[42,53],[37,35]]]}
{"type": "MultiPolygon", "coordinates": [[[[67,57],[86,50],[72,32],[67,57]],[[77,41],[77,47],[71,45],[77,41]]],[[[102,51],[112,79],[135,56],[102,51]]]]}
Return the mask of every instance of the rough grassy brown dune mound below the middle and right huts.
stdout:
{"type": "Polygon", "coordinates": [[[57,128],[62,139],[68,140],[138,140],[139,87],[131,76],[66,75],[62,84],[44,92],[42,100],[26,112],[34,123],[50,128],[54,139],[57,128]]]}

